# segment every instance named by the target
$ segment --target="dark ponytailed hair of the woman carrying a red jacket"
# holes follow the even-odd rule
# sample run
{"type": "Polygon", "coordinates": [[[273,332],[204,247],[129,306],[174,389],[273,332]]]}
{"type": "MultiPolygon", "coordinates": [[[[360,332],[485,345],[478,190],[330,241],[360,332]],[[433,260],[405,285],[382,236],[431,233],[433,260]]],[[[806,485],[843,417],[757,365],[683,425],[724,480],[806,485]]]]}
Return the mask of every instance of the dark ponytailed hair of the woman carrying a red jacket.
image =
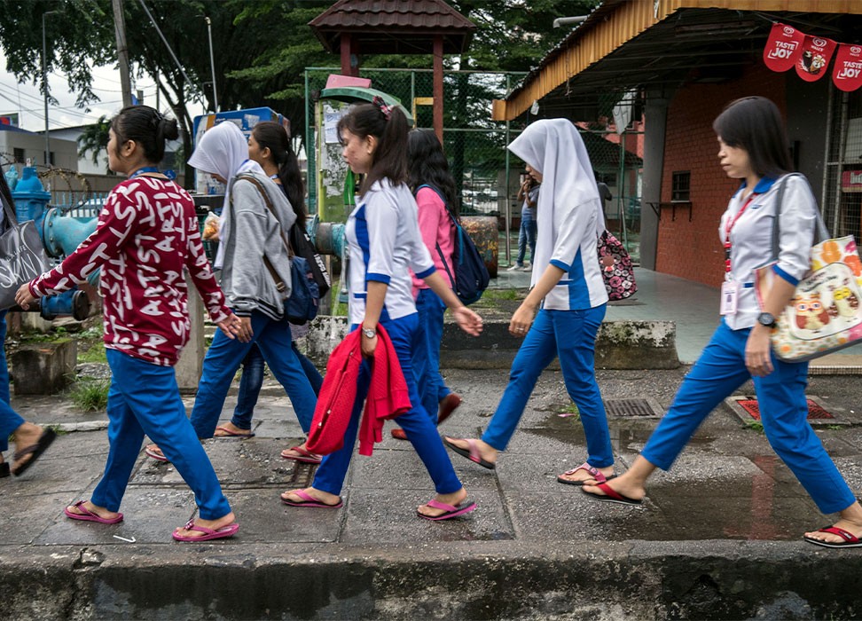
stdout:
{"type": "Polygon", "coordinates": [[[392,106],[387,114],[374,104],[360,104],[338,122],[341,130],[365,139],[377,138],[377,148],[372,155],[372,168],[365,175],[359,193],[364,194],[375,182],[388,178],[392,185],[407,182],[407,117],[401,108],[392,106]]]}

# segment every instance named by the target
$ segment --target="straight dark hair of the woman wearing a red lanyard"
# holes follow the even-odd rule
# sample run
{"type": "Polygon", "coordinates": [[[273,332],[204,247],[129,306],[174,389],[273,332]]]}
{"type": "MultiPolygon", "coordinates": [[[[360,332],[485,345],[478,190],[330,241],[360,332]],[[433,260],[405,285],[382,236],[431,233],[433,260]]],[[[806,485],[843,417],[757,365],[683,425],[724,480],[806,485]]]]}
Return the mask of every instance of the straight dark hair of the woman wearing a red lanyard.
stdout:
{"type": "Polygon", "coordinates": [[[793,169],[788,134],[778,106],[764,97],[744,97],[725,106],[712,123],[725,145],[745,149],[759,177],[780,177],[793,169]]]}

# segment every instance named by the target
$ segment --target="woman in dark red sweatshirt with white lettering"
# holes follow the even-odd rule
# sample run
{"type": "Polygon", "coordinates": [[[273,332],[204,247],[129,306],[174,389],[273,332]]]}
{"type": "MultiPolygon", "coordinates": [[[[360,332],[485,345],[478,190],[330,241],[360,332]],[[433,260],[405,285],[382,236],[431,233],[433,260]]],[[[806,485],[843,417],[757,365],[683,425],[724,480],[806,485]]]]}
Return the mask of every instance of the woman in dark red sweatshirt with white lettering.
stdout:
{"type": "Polygon", "coordinates": [[[110,451],[105,475],[90,500],[66,507],[73,520],[114,524],[144,435],[189,484],[199,517],[174,531],[178,541],[231,537],[239,530],[207,453],[185,417],[173,366],[188,340],[189,271],[224,338],[239,332],[239,318],[224,304],[200,240],[194,203],[159,172],[165,139],[176,121],[148,106],[124,107],[111,122],[108,165],[129,177],[108,195],[96,231],[59,267],[20,287],[27,308],[41,295],[66,291],[101,268],[105,346],[111,366],[108,391],[110,451]]]}

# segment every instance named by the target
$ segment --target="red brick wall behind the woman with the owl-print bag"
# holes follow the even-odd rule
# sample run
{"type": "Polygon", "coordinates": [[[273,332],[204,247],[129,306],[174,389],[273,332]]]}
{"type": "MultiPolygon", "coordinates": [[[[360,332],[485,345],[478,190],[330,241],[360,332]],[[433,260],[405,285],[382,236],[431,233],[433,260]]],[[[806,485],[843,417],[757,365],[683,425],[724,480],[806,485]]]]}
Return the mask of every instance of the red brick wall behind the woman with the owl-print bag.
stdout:
{"type": "MultiPolygon", "coordinates": [[[[691,84],[679,90],[668,108],[662,173],[662,204],[670,203],[674,171],[691,171],[689,209],[662,207],[656,271],[718,287],[724,279],[724,249],[718,221],[739,186],[718,166],[718,143],[712,122],[735,98],[760,95],[785,113],[785,75],[762,65],[748,67],[742,77],[722,84],[691,84]]],[[[649,119],[647,119],[647,123],[649,119]]]]}

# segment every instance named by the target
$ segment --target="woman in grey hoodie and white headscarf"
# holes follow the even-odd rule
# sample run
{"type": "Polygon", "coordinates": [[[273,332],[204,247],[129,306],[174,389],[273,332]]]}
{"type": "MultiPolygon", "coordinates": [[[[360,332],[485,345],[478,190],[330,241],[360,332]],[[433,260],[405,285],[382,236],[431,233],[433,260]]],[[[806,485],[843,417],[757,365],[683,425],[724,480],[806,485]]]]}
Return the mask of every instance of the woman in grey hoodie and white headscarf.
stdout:
{"type": "MultiPolygon", "coordinates": [[[[308,434],[317,397],[291,347],[285,316],[291,277],[284,239],[296,220],[294,209],[261,165],[248,159],[247,139],[231,122],[208,130],[189,163],[227,185],[215,267],[222,270],[224,295],[242,322],[236,340],[216,333],[207,350],[192,426],[199,438],[213,436],[239,364],[256,343],[308,434]],[[279,290],[267,263],[286,288],[279,290]]],[[[153,445],[147,454],[161,457],[153,445]]]]}

